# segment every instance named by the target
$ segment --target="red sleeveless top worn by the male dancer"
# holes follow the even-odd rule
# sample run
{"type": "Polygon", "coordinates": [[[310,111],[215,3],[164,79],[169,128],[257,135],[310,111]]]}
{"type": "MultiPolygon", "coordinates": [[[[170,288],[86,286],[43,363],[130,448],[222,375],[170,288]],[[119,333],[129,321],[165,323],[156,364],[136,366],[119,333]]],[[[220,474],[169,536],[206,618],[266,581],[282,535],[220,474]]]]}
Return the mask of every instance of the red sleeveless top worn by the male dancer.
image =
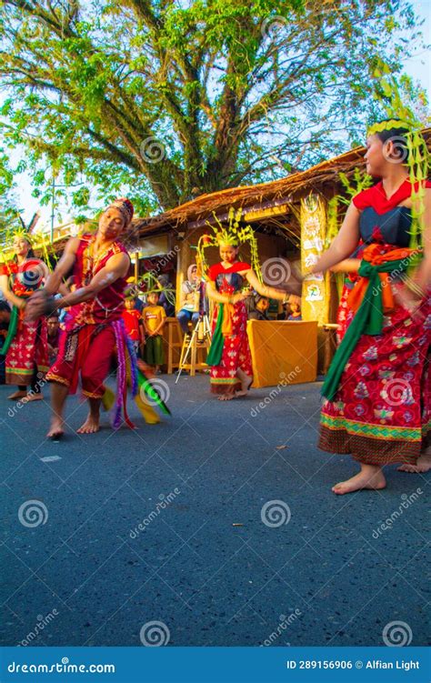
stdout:
{"type": "MultiPolygon", "coordinates": [[[[77,288],[89,285],[93,277],[115,254],[127,254],[121,242],[114,242],[105,252],[95,256],[95,235],[83,235],[76,250],[74,283],[77,288]]],[[[127,254],[128,256],[128,254],[127,254]]],[[[126,278],[119,277],[105,286],[94,299],[74,306],[75,322],[79,325],[105,323],[122,316],[125,307],[126,278]]]]}

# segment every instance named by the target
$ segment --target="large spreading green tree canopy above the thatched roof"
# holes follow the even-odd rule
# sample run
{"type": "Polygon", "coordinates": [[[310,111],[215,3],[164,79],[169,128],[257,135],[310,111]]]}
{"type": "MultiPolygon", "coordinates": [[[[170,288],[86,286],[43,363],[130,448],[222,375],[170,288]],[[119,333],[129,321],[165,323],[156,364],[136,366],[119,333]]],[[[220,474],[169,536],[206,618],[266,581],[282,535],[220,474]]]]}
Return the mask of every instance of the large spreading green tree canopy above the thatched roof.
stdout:
{"type": "Polygon", "coordinates": [[[166,209],[361,140],[415,33],[408,0],[3,0],[3,145],[43,202],[54,173],[166,209]]]}

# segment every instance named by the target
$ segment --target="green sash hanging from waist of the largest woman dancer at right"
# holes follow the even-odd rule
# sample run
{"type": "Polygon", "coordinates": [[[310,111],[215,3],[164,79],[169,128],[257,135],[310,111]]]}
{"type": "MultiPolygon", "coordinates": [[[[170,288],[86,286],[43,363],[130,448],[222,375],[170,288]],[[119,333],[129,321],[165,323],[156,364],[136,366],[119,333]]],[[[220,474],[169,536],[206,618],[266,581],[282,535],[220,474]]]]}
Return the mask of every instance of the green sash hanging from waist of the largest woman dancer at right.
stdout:
{"type": "Polygon", "coordinates": [[[336,391],[346,363],[355,350],[360,336],[380,335],[382,332],[382,281],[378,274],[393,273],[395,270],[401,273],[406,271],[408,266],[406,258],[398,261],[386,261],[386,263],[382,263],[379,266],[372,266],[368,261],[361,261],[358,275],[368,277],[369,282],[364,299],[356,311],[356,316],[347,327],[346,335],[343,337],[340,346],[336,349],[336,355],[332,359],[331,366],[327,371],[322,387],[322,395],[329,401],[333,401],[336,397],[336,391]]]}

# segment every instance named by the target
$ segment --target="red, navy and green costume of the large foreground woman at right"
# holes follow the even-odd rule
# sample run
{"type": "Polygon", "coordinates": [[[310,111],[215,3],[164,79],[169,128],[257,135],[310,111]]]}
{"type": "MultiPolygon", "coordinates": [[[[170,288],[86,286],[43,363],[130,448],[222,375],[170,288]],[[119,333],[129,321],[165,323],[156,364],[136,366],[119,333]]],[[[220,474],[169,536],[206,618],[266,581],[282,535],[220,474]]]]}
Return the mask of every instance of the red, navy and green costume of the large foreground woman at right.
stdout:
{"type": "Polygon", "coordinates": [[[319,447],[369,465],[415,464],[431,430],[431,297],[415,315],[394,297],[415,256],[410,211],[399,206],[411,192],[406,181],[387,199],[378,183],[354,198],[364,242],[348,302],[355,315],[322,392],[319,447]]]}

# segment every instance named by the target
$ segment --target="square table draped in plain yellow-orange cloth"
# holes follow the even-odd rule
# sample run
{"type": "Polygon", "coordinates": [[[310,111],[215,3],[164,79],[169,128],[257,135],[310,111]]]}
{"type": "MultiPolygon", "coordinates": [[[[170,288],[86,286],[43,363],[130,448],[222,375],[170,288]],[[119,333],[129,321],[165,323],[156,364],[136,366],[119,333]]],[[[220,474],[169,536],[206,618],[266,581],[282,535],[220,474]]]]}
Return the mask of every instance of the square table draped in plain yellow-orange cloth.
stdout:
{"type": "Polygon", "coordinates": [[[314,382],[317,375],[317,321],[249,320],[253,387],[314,382]]]}

